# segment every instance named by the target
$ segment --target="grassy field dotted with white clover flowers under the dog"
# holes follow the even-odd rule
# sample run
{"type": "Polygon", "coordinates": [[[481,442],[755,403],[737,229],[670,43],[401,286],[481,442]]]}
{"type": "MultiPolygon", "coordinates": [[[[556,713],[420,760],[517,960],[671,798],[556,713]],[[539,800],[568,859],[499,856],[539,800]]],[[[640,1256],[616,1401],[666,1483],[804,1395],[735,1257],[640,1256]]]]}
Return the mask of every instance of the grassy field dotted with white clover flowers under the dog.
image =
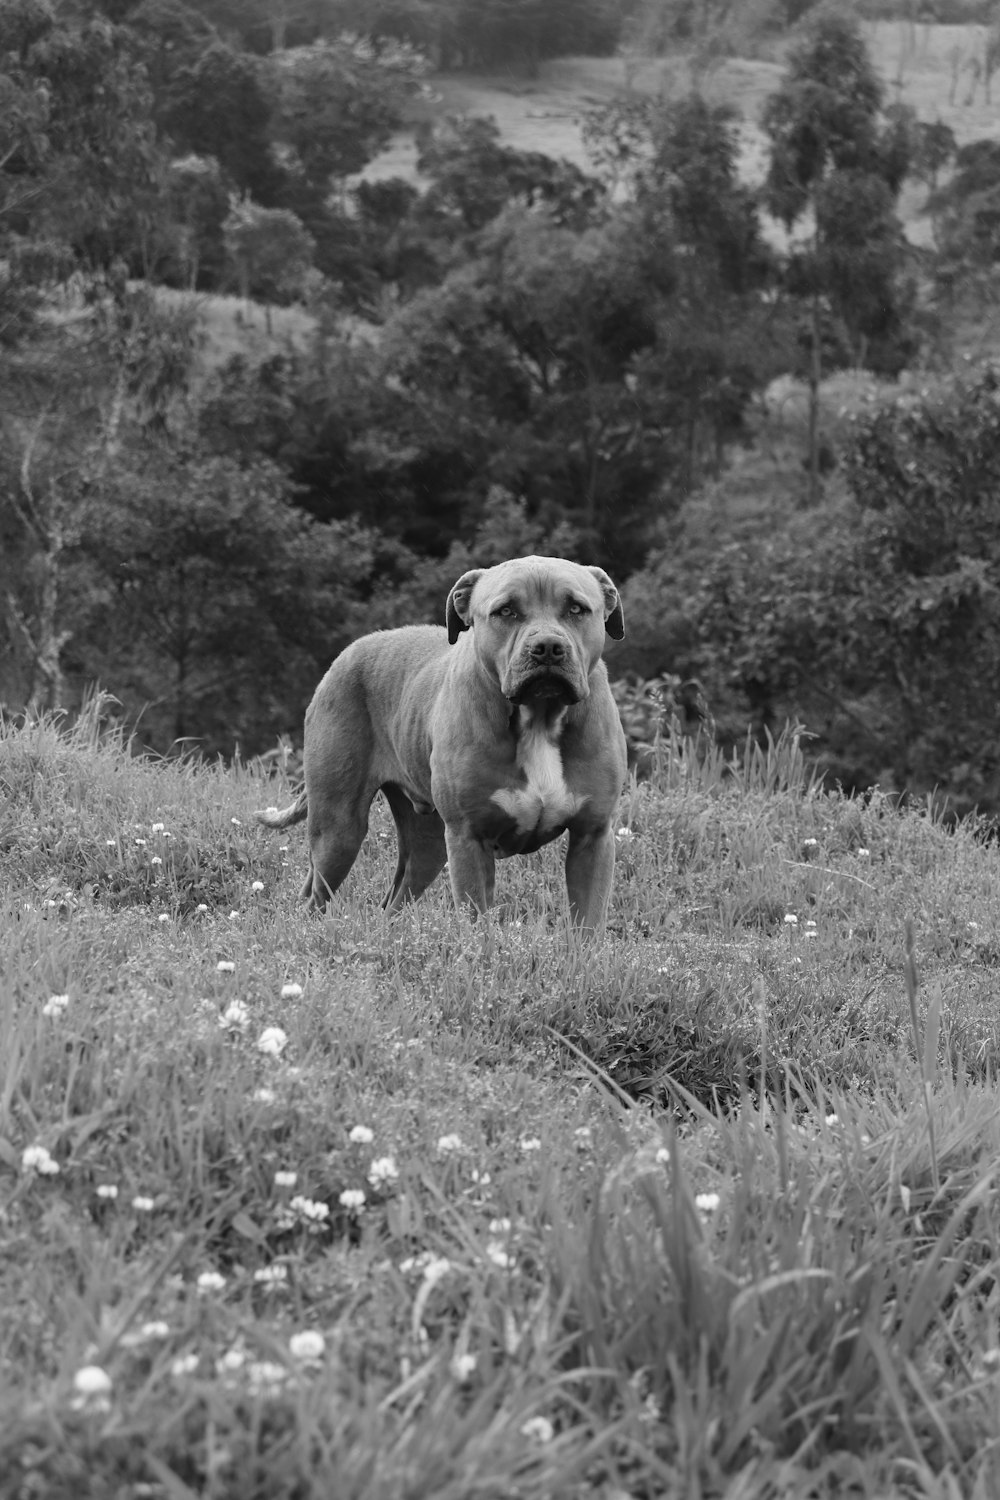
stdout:
{"type": "Polygon", "coordinates": [[[663,747],[606,938],[379,807],[321,920],[97,726],[0,736],[3,1500],[1000,1492],[996,846],[663,747]]]}

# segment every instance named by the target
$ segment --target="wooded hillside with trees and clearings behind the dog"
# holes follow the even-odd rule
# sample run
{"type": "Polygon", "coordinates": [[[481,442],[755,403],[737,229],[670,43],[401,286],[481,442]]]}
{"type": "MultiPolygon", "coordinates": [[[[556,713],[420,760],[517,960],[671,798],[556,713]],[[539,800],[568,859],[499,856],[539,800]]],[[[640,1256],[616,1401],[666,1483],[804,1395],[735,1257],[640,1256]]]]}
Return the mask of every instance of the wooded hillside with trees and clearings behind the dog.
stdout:
{"type": "Polygon", "coordinates": [[[262,752],[544,550],[640,722],[996,812],[999,64],[973,0],[0,0],[0,702],[262,752]]]}

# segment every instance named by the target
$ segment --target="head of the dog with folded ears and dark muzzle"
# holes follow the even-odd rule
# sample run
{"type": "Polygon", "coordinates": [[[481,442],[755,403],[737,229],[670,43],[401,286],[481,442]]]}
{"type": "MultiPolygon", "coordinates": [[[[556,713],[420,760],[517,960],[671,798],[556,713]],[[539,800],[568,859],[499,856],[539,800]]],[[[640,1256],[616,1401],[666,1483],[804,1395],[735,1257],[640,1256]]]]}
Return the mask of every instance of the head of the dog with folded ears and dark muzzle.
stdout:
{"type": "Polygon", "coordinates": [[[475,652],[511,704],[588,698],[604,638],[625,634],[622,602],[600,567],[513,558],[463,573],[447,608],[448,640],[474,632],[475,652]]]}

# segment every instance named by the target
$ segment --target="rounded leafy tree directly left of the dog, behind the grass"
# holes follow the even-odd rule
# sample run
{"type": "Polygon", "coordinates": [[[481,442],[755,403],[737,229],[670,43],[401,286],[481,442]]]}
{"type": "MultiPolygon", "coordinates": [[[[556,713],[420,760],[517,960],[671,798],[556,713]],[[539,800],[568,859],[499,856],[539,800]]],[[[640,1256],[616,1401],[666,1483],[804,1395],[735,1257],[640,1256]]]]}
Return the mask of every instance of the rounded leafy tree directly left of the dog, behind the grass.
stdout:
{"type": "Polygon", "coordinates": [[[259,748],[346,645],[370,542],[316,525],[273,465],[157,444],[111,468],[85,552],[105,609],[79,657],[160,748],[259,748]]]}

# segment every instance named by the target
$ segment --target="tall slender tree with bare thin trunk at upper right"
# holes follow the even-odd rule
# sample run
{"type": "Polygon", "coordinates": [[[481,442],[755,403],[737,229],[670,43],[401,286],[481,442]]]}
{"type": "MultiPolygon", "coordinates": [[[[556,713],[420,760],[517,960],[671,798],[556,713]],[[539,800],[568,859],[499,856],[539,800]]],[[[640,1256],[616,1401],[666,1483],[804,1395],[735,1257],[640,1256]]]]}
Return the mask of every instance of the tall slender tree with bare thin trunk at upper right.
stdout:
{"type": "Polygon", "coordinates": [[[768,208],[808,238],[789,262],[789,285],[808,306],[810,500],[820,484],[819,404],[825,312],[840,321],[853,357],[865,340],[898,332],[904,262],[895,198],[909,166],[898,122],[882,118],[882,84],[856,22],[825,10],[789,52],[765,105],[771,140],[768,208]]]}

